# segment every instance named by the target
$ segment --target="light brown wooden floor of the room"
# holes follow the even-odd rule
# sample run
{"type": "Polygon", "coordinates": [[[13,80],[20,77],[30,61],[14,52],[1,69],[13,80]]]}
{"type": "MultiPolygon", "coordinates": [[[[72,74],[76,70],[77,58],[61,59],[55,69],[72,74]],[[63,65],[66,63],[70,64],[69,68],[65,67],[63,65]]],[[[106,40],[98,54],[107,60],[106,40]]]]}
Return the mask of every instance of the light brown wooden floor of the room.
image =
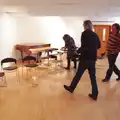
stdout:
{"type": "Polygon", "coordinates": [[[102,83],[106,69],[106,60],[99,60],[97,102],[87,96],[91,91],[87,71],[73,94],[63,85],[70,84],[74,70],[40,67],[36,81],[20,82],[15,73],[8,73],[7,87],[0,87],[0,120],[120,120],[120,82],[113,75],[109,83],[102,83]]]}

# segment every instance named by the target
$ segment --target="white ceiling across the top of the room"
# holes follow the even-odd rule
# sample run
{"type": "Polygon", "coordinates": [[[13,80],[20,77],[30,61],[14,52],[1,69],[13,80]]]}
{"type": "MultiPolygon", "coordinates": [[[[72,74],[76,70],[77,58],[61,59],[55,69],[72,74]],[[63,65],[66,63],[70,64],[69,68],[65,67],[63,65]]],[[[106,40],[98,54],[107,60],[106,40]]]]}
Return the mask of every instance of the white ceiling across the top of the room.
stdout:
{"type": "Polygon", "coordinates": [[[40,16],[81,16],[110,20],[120,16],[120,0],[0,0],[0,12],[40,16]]]}

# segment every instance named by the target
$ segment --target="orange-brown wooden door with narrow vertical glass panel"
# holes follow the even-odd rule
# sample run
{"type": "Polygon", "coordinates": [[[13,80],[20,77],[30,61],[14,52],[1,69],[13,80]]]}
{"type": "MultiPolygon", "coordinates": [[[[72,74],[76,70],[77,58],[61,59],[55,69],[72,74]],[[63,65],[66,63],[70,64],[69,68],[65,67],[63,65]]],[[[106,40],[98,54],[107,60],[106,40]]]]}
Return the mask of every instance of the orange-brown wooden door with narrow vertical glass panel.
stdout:
{"type": "Polygon", "coordinates": [[[94,32],[97,33],[101,42],[101,48],[98,50],[98,56],[106,53],[106,44],[111,31],[111,25],[94,25],[94,32]]]}

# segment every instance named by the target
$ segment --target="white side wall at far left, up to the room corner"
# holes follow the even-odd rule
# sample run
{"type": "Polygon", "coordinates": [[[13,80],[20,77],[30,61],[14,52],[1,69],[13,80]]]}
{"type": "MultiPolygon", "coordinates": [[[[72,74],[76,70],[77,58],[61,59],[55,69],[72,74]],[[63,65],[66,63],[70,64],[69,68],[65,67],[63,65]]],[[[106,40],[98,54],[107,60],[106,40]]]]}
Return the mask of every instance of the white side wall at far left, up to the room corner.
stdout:
{"type": "Polygon", "coordinates": [[[17,43],[16,19],[5,14],[0,16],[0,60],[12,56],[17,43]]]}

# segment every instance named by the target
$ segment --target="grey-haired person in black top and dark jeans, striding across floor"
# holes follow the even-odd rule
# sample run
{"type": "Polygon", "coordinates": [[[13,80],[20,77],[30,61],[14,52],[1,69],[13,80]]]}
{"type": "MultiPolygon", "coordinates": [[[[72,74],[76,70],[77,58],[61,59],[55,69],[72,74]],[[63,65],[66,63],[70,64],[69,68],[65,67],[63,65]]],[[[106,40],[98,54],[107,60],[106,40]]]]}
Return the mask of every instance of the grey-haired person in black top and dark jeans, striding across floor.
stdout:
{"type": "Polygon", "coordinates": [[[92,31],[92,22],[90,20],[84,21],[85,31],[81,36],[81,47],[78,49],[78,53],[81,54],[80,62],[76,75],[74,76],[70,86],[64,85],[64,88],[69,92],[74,92],[80,78],[87,69],[89,71],[89,76],[91,79],[92,93],[89,97],[93,100],[97,100],[98,87],[96,82],[96,60],[97,60],[97,50],[100,48],[100,40],[96,33],[92,31]]]}

